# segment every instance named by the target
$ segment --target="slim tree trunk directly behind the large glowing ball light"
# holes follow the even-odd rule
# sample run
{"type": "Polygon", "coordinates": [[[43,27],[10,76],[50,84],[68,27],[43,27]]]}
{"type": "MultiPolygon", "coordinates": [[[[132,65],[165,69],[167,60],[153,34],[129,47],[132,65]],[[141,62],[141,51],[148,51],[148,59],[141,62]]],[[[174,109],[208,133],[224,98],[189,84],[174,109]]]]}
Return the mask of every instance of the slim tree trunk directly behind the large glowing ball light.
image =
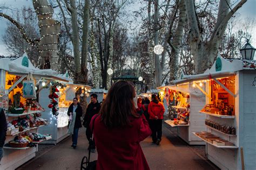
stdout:
{"type": "MultiPolygon", "coordinates": [[[[159,8],[158,8],[158,0],[154,1],[154,45],[159,44],[159,33],[158,33],[158,18],[159,18],[159,8]]],[[[161,86],[161,75],[162,69],[160,66],[159,55],[154,54],[154,77],[156,80],[156,87],[161,86]]]]}

